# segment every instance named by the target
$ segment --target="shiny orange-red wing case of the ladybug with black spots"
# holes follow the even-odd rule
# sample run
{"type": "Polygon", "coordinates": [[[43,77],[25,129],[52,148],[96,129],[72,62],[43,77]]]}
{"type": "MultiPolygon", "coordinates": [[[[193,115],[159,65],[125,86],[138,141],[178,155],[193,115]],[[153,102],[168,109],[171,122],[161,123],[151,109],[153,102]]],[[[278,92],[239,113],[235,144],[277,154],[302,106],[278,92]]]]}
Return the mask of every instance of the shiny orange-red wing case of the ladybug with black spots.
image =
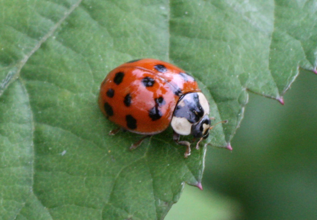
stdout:
{"type": "Polygon", "coordinates": [[[156,134],[170,124],[182,94],[197,82],[170,63],[142,59],[110,71],[100,86],[99,106],[109,120],[134,133],[156,134]]]}

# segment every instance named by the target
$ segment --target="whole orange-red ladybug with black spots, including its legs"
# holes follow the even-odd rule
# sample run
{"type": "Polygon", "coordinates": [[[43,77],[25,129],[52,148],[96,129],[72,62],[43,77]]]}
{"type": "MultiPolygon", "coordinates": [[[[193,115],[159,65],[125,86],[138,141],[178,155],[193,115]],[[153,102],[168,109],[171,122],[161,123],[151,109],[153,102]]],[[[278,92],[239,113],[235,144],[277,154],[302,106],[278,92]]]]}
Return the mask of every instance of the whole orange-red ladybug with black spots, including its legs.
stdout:
{"type": "Polygon", "coordinates": [[[190,143],[179,141],[180,135],[199,138],[198,148],[212,128],[209,103],[197,82],[184,70],[164,61],[134,60],[113,69],[101,83],[98,102],[109,120],[124,130],[145,135],[130,149],[171,124],[174,141],[187,146],[186,158],[191,154],[190,143]]]}

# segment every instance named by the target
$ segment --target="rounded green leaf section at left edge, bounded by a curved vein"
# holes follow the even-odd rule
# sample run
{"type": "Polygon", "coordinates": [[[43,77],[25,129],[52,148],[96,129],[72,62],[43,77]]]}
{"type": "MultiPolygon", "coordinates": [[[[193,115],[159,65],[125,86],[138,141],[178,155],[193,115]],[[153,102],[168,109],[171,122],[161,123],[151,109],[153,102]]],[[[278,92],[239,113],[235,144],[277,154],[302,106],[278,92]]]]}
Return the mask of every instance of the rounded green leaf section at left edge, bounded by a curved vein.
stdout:
{"type": "Polygon", "coordinates": [[[33,117],[19,80],[5,91],[0,103],[0,216],[13,219],[32,191],[33,117]]]}

